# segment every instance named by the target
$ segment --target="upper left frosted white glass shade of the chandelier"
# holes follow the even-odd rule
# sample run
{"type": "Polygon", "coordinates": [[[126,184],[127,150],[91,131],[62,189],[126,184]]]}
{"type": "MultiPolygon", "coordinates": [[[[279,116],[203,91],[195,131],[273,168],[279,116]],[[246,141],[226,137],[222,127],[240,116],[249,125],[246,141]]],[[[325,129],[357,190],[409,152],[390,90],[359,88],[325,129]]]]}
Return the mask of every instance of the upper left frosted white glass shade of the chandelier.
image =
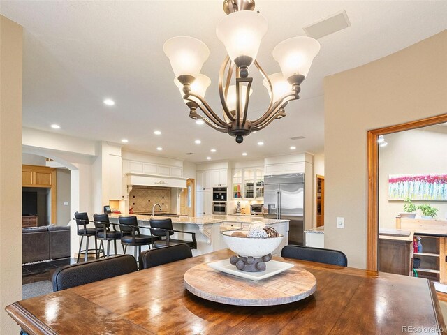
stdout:
{"type": "Polygon", "coordinates": [[[175,77],[191,75],[196,78],[203,63],[210,56],[210,50],[205,43],[188,36],[170,38],[163,45],[163,51],[169,58],[175,77]]]}

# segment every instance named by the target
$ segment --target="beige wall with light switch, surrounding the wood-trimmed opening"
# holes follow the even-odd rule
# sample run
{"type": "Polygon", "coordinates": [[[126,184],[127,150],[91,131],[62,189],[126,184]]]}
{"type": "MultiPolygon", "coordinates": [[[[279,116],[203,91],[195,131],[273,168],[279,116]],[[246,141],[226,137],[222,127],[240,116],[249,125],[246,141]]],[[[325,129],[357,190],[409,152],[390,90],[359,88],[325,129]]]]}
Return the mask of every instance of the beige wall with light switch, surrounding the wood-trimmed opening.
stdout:
{"type": "Polygon", "coordinates": [[[446,54],[443,31],[325,78],[325,248],[349,266],[366,267],[367,131],[447,113],[446,54]]]}

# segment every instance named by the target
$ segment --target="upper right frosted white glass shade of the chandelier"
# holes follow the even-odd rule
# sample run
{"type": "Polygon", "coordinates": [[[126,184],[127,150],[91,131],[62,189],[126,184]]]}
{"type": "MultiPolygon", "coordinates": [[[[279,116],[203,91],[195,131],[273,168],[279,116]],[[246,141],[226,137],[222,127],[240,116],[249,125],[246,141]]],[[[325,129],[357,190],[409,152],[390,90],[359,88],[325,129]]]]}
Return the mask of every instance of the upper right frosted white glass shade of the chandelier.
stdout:
{"type": "Polygon", "coordinates": [[[299,36],[283,40],[273,49],[273,58],[281,66],[286,79],[292,75],[307,76],[314,57],[320,51],[320,43],[314,38],[299,36]]]}

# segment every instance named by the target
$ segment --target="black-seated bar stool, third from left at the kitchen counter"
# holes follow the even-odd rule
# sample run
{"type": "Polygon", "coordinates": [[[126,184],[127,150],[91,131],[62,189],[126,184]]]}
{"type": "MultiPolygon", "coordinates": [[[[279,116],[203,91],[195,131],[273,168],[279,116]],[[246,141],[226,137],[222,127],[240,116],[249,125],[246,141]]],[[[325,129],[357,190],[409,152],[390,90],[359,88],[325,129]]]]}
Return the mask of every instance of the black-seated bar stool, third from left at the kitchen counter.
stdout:
{"type": "Polygon", "coordinates": [[[135,260],[138,260],[138,255],[141,253],[141,246],[149,246],[150,248],[152,244],[152,236],[140,233],[136,216],[119,216],[118,221],[124,253],[126,253],[127,246],[133,246],[133,256],[135,257],[135,260]]]}

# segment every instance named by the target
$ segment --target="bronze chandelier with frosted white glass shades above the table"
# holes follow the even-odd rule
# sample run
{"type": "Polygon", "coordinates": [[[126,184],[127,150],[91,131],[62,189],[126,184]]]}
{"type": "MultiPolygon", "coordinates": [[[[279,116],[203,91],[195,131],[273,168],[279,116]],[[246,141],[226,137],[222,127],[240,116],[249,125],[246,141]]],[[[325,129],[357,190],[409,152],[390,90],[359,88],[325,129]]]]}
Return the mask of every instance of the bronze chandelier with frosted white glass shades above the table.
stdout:
{"type": "Polygon", "coordinates": [[[289,101],[300,98],[300,84],[320,51],[320,43],[307,36],[282,41],[272,52],[281,73],[266,75],[256,61],[256,55],[261,39],[267,32],[268,22],[263,15],[254,11],[254,0],[225,0],[223,10],[227,16],[216,28],[217,38],[225,45],[228,53],[219,70],[222,117],[205,101],[205,91],[211,80],[200,74],[200,70],[210,55],[207,45],[197,38],[177,36],[165,42],[163,51],[173,68],[174,82],[189,107],[189,117],[202,119],[208,126],[235,136],[236,142],[242,143],[244,136],[260,131],[274,119],[286,116],[284,107],[289,101]],[[247,115],[249,96],[253,91],[253,78],[249,77],[251,65],[256,66],[263,76],[263,85],[270,95],[267,110],[252,121],[247,115]]]}

